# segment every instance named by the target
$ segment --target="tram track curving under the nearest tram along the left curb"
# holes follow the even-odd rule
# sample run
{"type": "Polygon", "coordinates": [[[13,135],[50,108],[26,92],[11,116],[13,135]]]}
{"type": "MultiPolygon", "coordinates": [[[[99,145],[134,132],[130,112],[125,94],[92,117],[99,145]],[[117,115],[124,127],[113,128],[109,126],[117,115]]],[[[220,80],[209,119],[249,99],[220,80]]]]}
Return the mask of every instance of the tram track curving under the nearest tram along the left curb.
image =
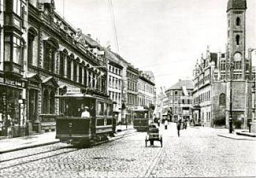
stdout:
{"type": "MultiPolygon", "coordinates": [[[[111,142],[111,141],[124,139],[128,136],[133,136],[135,134],[139,134],[139,132],[127,133],[127,134],[123,134],[122,136],[117,136],[114,139],[92,143],[92,145],[89,145],[88,148],[92,148],[96,145],[101,145],[103,143],[108,143],[108,142],[111,142]]],[[[28,149],[31,149],[31,148],[28,148],[28,149]]],[[[56,148],[56,149],[53,149],[53,150],[47,150],[47,151],[44,151],[44,152],[37,152],[35,154],[24,155],[22,157],[15,157],[15,158],[12,158],[12,159],[1,160],[0,161],[0,170],[4,170],[4,169],[7,169],[7,168],[12,168],[12,167],[15,167],[15,166],[19,166],[19,165],[24,164],[24,163],[31,163],[31,162],[39,161],[39,160],[42,160],[42,159],[48,159],[48,158],[51,158],[51,157],[56,157],[56,156],[59,156],[61,154],[67,154],[69,152],[75,152],[75,151],[80,150],[80,149],[81,148],[74,147],[74,145],[67,145],[67,146],[63,146],[63,147],[56,148]]],[[[83,149],[86,149],[86,148],[83,148],[83,149]]]]}

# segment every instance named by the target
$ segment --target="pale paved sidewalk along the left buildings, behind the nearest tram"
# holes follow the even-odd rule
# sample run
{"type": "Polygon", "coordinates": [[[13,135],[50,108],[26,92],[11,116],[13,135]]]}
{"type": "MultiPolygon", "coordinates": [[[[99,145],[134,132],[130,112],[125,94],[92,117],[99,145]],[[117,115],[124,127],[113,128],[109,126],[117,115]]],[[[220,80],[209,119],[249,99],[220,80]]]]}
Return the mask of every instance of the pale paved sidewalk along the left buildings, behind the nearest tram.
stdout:
{"type": "MultiPolygon", "coordinates": [[[[136,132],[133,130],[133,127],[121,127],[121,132],[114,134],[114,137],[110,138],[110,141],[115,138],[119,138],[125,134],[130,134],[136,132]]],[[[45,132],[43,134],[33,134],[30,136],[22,136],[12,139],[1,139],[0,140],[0,154],[3,152],[12,152],[15,150],[22,150],[26,148],[35,148],[42,145],[50,145],[53,143],[60,142],[59,139],[56,139],[56,132],[45,132]]]]}

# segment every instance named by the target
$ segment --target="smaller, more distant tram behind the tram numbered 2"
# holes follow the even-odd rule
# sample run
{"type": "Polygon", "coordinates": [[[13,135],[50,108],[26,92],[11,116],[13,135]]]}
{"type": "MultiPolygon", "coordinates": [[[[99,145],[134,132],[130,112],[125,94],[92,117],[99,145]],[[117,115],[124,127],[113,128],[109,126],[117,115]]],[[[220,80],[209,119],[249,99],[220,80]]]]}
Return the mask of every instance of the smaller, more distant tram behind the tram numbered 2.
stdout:
{"type": "Polygon", "coordinates": [[[150,109],[137,109],[133,112],[133,127],[137,132],[147,132],[148,124],[152,122],[150,109]]]}

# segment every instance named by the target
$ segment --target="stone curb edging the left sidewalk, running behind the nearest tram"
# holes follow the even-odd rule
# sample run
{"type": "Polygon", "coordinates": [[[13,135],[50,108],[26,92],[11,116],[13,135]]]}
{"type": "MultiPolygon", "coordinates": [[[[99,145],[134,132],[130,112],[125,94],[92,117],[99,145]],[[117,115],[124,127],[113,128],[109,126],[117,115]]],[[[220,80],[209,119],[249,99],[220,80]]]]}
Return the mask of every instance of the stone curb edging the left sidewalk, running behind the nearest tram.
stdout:
{"type": "MultiPolygon", "coordinates": [[[[134,133],[136,133],[136,132],[131,132],[131,133],[128,133],[128,134],[123,134],[121,136],[115,136],[115,137],[112,137],[113,139],[111,139],[111,140],[96,142],[96,143],[93,143],[90,146],[101,145],[103,143],[107,143],[108,141],[115,141],[115,140],[124,138],[126,135],[130,135],[130,134],[134,134],[134,133]]],[[[44,146],[44,145],[51,145],[51,144],[55,144],[55,143],[60,143],[60,141],[51,141],[51,142],[39,143],[39,144],[35,144],[35,145],[26,145],[26,146],[23,146],[23,147],[20,147],[20,148],[13,148],[13,149],[9,149],[9,150],[0,151],[0,154],[6,153],[6,152],[15,152],[15,151],[18,151],[18,150],[24,150],[24,149],[28,149],[28,148],[36,148],[36,147],[40,147],[40,146],[44,146]]]]}

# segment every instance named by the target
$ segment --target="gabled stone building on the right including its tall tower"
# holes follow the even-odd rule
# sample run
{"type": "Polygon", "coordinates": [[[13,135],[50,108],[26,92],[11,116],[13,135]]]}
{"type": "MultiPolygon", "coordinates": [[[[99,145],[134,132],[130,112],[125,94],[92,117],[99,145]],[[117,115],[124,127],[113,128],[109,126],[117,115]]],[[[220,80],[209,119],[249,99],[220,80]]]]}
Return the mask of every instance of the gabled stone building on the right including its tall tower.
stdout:
{"type": "Polygon", "coordinates": [[[255,74],[251,57],[246,57],[246,8],[246,0],[228,1],[226,51],[207,48],[194,69],[193,118],[204,125],[222,121],[228,127],[232,118],[247,129],[253,117],[255,74]]]}

